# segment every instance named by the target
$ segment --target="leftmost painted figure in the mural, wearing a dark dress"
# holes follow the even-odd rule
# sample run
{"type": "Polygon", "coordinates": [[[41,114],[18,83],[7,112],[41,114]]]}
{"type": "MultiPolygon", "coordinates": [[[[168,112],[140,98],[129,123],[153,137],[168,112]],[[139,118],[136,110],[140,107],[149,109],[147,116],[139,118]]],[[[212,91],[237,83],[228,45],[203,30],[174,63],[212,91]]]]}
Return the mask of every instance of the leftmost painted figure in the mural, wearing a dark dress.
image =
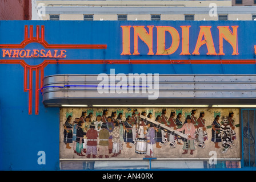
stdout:
{"type": "Polygon", "coordinates": [[[73,143],[73,123],[71,122],[72,117],[71,115],[69,115],[69,117],[67,117],[66,122],[64,123],[63,127],[64,127],[64,143],[66,144],[66,148],[71,148],[69,146],[70,143],[73,143]]]}

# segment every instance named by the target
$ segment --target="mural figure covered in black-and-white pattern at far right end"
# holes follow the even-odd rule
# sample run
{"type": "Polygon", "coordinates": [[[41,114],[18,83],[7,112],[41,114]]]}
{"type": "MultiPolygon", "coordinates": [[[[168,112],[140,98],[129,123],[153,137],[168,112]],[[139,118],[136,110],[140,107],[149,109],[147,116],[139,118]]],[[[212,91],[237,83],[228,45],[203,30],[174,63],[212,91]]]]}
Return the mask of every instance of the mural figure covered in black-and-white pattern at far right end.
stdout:
{"type": "Polygon", "coordinates": [[[221,135],[222,135],[222,147],[223,147],[223,151],[222,153],[226,153],[227,150],[229,150],[229,148],[231,147],[231,134],[230,134],[230,125],[229,125],[229,121],[227,120],[227,118],[225,117],[222,121],[222,125],[221,125],[221,135]]]}

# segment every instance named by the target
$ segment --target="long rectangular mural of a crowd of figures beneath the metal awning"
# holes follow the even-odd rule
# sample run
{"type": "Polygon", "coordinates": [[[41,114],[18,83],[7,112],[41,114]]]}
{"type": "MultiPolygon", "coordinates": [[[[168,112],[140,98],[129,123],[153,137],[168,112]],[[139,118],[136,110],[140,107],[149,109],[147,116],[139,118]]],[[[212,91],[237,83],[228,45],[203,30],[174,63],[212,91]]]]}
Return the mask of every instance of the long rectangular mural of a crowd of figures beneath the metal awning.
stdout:
{"type": "Polygon", "coordinates": [[[65,107],[60,158],[240,158],[239,132],[234,108],[65,107]]]}

